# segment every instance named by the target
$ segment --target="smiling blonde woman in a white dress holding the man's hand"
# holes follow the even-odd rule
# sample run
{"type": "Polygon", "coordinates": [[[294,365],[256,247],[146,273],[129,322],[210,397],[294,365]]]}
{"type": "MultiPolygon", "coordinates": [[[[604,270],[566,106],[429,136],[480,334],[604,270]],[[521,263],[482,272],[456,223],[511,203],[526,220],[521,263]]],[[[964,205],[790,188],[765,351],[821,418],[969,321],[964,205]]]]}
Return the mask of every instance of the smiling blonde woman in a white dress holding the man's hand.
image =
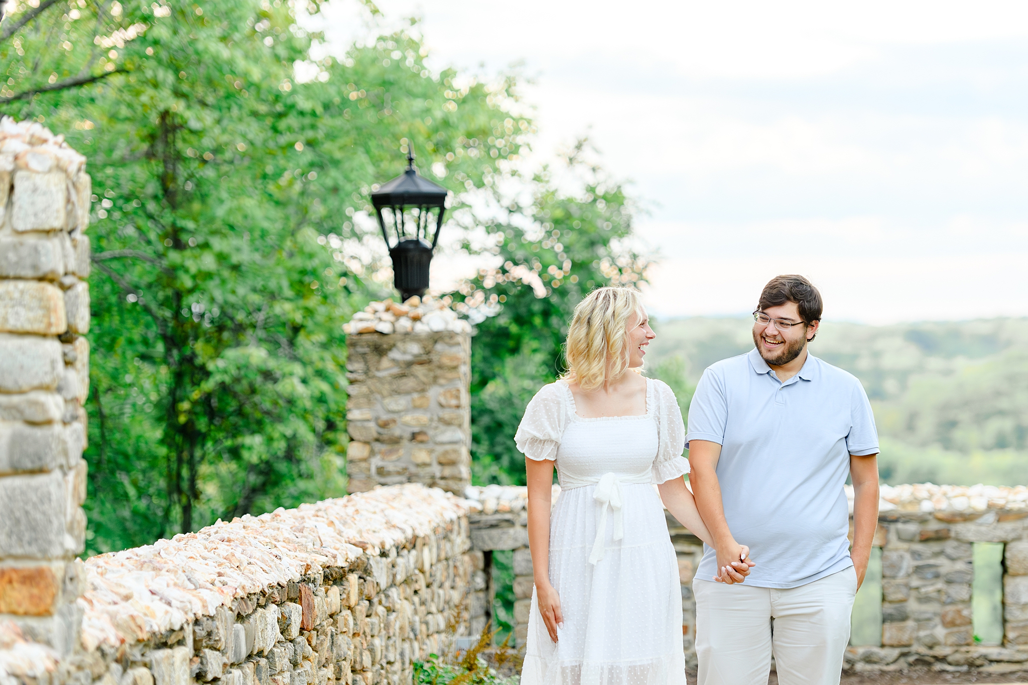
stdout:
{"type": "MultiPolygon", "coordinates": [[[[633,373],[654,337],[636,291],[593,291],[575,308],[567,372],[536,394],[518,427],[536,581],[522,685],[686,682],[678,567],[661,501],[712,540],[682,478],[689,462],[674,393],[633,373]],[[551,521],[554,464],[561,492],[551,521]]],[[[717,579],[742,582],[752,563],[734,565],[717,579]]]]}

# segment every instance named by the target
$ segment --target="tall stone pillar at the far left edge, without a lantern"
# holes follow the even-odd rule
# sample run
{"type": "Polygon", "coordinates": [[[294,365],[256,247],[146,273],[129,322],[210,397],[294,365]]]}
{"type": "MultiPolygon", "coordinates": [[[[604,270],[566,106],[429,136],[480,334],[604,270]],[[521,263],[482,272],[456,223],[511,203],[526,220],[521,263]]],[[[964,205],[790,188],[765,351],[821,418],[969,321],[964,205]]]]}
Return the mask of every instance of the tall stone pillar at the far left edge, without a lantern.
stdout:
{"type": "Polygon", "coordinates": [[[0,120],[0,621],[68,653],[81,622],[90,181],[38,123],[0,120]]]}

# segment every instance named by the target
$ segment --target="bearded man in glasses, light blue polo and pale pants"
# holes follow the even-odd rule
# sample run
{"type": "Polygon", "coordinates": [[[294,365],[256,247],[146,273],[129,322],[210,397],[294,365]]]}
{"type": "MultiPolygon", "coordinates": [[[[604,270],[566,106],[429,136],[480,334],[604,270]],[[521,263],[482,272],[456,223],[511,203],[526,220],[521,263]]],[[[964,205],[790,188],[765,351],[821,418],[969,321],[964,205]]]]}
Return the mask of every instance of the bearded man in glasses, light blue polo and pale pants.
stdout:
{"type": "Polygon", "coordinates": [[[878,522],[878,435],[859,381],[807,351],[820,318],[809,280],[773,278],[756,348],[711,365],[693,395],[689,480],[717,544],[693,582],[698,685],[766,683],[772,648],[781,685],[839,683],[878,522]],[[746,582],[714,582],[741,544],[746,582]]]}

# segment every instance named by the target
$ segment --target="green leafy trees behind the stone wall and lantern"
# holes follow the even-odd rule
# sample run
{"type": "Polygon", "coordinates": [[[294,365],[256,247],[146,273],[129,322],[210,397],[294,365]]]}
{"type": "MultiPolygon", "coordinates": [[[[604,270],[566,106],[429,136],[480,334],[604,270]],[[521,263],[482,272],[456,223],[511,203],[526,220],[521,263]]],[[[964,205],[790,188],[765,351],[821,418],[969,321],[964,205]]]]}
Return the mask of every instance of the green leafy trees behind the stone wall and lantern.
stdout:
{"type": "Polygon", "coordinates": [[[345,492],[340,324],[383,294],[370,183],[410,143],[454,193],[460,248],[504,263],[456,298],[500,310],[474,344],[475,458],[517,480],[513,428],[571,308],[638,279],[617,257],[630,205],[580,153],[581,193],[519,177],[517,79],[433,73],[415,31],[315,61],[280,0],[10,9],[4,112],[64,132],[94,179],[86,554],[345,492]]]}

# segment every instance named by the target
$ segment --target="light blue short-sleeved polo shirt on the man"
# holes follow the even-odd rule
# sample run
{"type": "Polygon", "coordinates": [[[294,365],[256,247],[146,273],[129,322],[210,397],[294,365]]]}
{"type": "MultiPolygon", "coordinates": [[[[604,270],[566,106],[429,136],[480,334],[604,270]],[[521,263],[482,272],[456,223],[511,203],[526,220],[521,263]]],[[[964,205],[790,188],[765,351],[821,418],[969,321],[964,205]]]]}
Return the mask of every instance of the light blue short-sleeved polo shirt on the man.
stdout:
{"type": "MultiPolygon", "coordinates": [[[[722,446],[725,519],[757,562],[747,585],[798,587],[853,565],[843,485],[849,455],[878,453],[871,403],[852,374],[812,354],[782,383],[757,349],[710,365],[689,406],[689,441],[722,446]]],[[[696,577],[717,574],[703,547],[696,577]]]]}

